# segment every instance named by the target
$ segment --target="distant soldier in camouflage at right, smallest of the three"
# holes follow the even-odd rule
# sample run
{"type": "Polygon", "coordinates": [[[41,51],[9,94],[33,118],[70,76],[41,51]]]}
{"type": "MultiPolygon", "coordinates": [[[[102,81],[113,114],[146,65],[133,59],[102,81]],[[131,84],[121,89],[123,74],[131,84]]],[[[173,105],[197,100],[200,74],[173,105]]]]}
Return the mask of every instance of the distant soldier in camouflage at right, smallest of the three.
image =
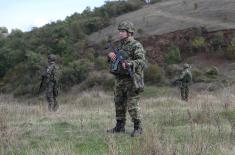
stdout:
{"type": "Polygon", "coordinates": [[[184,64],[184,69],[181,72],[179,80],[181,81],[180,91],[182,100],[188,101],[189,95],[189,84],[192,81],[192,73],[190,71],[190,66],[184,64]]]}

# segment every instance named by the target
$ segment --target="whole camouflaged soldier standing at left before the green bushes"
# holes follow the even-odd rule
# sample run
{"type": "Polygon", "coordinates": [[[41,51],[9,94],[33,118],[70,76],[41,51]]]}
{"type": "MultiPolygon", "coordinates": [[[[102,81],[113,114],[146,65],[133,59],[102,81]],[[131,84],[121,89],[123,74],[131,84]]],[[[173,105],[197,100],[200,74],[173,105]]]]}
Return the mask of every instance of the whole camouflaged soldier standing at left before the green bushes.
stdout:
{"type": "Polygon", "coordinates": [[[58,96],[59,70],[55,61],[56,56],[50,54],[48,56],[48,66],[42,75],[42,79],[44,79],[43,81],[46,83],[46,98],[49,111],[56,111],[59,108],[56,100],[58,96]]]}

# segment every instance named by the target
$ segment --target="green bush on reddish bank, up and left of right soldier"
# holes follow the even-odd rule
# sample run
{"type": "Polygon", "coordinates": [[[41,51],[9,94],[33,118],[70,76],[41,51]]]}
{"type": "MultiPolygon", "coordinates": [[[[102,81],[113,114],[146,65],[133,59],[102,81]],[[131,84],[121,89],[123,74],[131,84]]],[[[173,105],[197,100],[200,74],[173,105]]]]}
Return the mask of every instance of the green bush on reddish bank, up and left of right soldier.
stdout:
{"type": "Polygon", "coordinates": [[[181,61],[180,49],[178,46],[171,44],[168,47],[168,52],[165,55],[165,62],[167,64],[179,63],[181,61]]]}

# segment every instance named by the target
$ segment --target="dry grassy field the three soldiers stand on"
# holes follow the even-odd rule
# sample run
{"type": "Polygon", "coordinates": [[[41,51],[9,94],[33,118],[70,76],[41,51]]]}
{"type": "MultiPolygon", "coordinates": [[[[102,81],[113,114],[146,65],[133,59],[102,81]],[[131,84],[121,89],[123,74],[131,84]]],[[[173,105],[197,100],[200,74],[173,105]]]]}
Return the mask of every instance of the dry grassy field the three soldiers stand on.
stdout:
{"type": "Polygon", "coordinates": [[[171,88],[147,87],[141,100],[144,134],[108,134],[115,123],[109,93],[92,91],[59,98],[47,111],[45,100],[1,95],[0,154],[235,154],[234,88],[193,92],[188,103],[171,88]]]}

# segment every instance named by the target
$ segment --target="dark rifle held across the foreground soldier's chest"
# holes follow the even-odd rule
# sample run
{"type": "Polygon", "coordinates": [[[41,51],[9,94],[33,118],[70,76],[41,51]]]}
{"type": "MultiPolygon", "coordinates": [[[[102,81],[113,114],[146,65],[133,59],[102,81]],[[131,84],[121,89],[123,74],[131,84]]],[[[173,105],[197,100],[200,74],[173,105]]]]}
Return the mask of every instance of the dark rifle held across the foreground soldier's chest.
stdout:
{"type": "Polygon", "coordinates": [[[111,71],[113,71],[113,72],[117,71],[118,65],[120,63],[121,64],[125,63],[125,66],[127,67],[127,70],[128,70],[130,77],[133,77],[133,72],[132,72],[131,66],[123,58],[122,54],[116,48],[114,48],[111,43],[108,44],[108,48],[111,48],[116,55],[116,60],[111,63],[111,71]]]}

